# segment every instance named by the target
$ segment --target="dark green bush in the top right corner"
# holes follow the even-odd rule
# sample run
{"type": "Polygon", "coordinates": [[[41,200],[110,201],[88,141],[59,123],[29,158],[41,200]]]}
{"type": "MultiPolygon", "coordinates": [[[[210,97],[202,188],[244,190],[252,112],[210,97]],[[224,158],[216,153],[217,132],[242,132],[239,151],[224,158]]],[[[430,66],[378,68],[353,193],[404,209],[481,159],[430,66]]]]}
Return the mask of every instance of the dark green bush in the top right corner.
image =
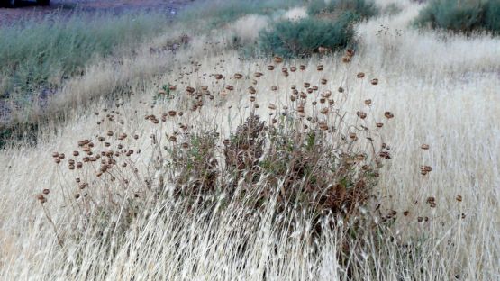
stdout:
{"type": "Polygon", "coordinates": [[[433,0],[416,23],[453,32],[500,32],[500,1],[433,0]]]}

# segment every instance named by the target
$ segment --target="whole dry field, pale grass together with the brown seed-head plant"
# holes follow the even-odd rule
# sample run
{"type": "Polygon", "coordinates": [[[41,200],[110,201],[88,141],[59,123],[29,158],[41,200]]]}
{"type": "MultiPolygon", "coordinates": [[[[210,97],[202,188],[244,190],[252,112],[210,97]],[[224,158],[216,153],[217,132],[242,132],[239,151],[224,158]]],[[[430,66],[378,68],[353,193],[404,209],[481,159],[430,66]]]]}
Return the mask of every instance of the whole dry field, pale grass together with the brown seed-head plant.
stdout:
{"type": "Polygon", "coordinates": [[[59,106],[128,95],[0,151],[0,276],[500,278],[500,40],[414,30],[421,5],[395,3],[355,51],[241,59],[244,23],[275,20],[244,15],[89,67],[59,106]]]}

